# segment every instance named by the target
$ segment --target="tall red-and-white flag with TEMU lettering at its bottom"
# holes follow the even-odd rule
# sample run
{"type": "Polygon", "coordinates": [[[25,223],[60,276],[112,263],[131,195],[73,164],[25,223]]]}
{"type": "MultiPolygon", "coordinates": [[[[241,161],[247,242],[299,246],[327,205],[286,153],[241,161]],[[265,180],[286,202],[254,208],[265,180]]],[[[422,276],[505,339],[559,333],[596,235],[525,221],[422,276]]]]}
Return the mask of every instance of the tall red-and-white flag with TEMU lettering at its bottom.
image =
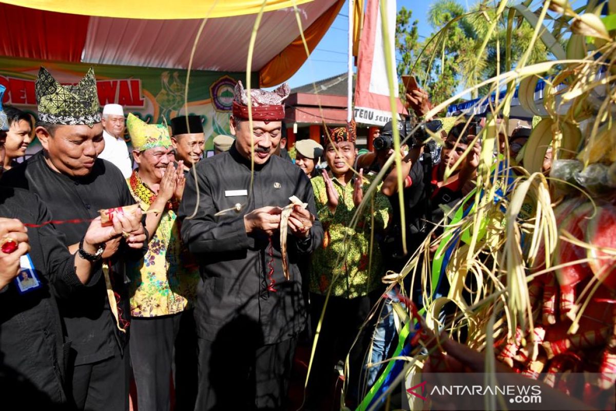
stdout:
{"type": "Polygon", "coordinates": [[[368,0],[357,59],[354,117],[357,123],[384,126],[387,121],[391,120],[391,105],[389,103],[389,83],[385,68],[383,26],[381,25],[379,1],[386,1],[387,31],[389,32],[389,43],[391,43],[396,111],[403,113],[404,110],[399,99],[398,78],[395,70],[395,0],[368,0]]]}

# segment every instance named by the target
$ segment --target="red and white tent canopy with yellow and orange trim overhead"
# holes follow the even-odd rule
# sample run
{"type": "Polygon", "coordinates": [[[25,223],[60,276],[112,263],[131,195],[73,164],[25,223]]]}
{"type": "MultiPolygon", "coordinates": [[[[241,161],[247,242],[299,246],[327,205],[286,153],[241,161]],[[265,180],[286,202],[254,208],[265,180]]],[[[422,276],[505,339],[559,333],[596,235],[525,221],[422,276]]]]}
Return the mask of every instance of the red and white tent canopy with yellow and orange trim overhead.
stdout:
{"type": "MultiPolygon", "coordinates": [[[[83,6],[88,4],[86,2],[77,2],[80,4],[73,10],[70,7],[74,2],[70,1],[2,1],[0,55],[9,57],[137,67],[188,68],[195,38],[203,22],[203,17],[183,18],[185,14],[180,16],[183,18],[181,20],[162,20],[50,11],[67,9],[69,12],[87,12],[87,7],[83,6]],[[7,2],[12,4],[6,4],[7,2]],[[85,8],[82,10],[80,7],[85,8]]],[[[139,2],[155,7],[159,0],[137,1],[139,2]]],[[[257,16],[240,14],[238,10],[242,11],[240,6],[246,3],[246,9],[243,11],[258,12],[262,1],[256,3],[259,7],[255,7],[255,2],[249,0],[220,2],[232,10],[227,11],[227,14],[235,15],[210,17],[206,20],[197,42],[192,69],[245,71],[250,36],[257,16]],[[249,9],[249,6],[252,6],[252,9],[249,9]]],[[[94,3],[97,7],[103,5],[100,1],[94,3]]],[[[121,4],[126,4],[125,1],[104,2],[111,7],[112,12],[115,3],[120,7],[117,14],[126,15],[126,11],[121,11],[121,4]]],[[[176,0],[166,3],[166,7],[172,4],[174,7],[190,10],[195,2],[176,0]]],[[[260,72],[261,86],[274,86],[293,75],[307,56],[299,38],[294,9],[286,7],[292,2],[269,0],[267,3],[273,3],[269,9],[278,9],[267,11],[262,16],[251,71],[260,72]]],[[[328,30],[343,3],[344,0],[296,1],[310,51],[328,30]]],[[[91,9],[104,15],[105,13],[99,11],[100,7],[97,7],[91,9]]],[[[222,14],[224,13],[223,10],[222,14]]],[[[172,12],[170,14],[174,15],[172,12]]],[[[221,12],[218,13],[220,14],[221,12]]],[[[156,17],[160,16],[161,12],[146,11],[143,15],[156,17]]],[[[194,15],[197,17],[200,14],[194,15]]]]}

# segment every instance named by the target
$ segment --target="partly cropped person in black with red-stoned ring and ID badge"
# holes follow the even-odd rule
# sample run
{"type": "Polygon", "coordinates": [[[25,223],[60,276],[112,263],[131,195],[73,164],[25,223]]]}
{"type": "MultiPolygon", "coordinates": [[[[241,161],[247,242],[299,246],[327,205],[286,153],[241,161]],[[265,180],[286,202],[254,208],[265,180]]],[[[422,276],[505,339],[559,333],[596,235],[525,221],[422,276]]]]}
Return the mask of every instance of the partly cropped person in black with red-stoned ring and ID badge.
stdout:
{"type": "MultiPolygon", "coordinates": [[[[2,115],[0,107],[0,126],[2,115]]],[[[0,164],[6,129],[0,127],[0,164]]],[[[71,342],[63,338],[55,301],[87,295],[100,281],[105,242],[141,224],[140,213],[120,216],[111,227],[102,227],[96,218],[71,254],[51,220],[36,195],[0,187],[0,394],[25,409],[67,409],[65,368],[71,342]],[[18,275],[27,276],[27,287],[14,280],[18,275]]]]}

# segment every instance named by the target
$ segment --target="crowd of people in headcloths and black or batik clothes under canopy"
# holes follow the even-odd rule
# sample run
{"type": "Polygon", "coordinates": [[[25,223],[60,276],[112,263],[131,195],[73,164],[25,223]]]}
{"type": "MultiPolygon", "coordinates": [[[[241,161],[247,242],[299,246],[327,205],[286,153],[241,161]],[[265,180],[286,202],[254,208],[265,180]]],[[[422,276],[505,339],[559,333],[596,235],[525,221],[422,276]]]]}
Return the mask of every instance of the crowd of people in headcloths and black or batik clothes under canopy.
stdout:
{"type": "MultiPolygon", "coordinates": [[[[426,122],[445,141],[436,147],[411,133],[416,120],[400,122],[402,168],[371,193],[394,153],[391,123],[374,152],[357,155],[351,122],[322,145],[298,141],[293,163],[286,84],[248,93],[238,83],[233,137],[216,137],[203,159],[199,116],[168,127],[117,104],[100,113],[92,70],[67,86],[41,68],[35,91],[35,124],[17,108],[0,113],[0,375],[4,391],[47,409],[128,409],[131,380],[140,410],[285,409],[296,347],[317,328],[306,409],[330,409],[349,352],[347,403],[357,404],[395,333],[395,290],[364,324],[383,275],[435,235],[479,164],[479,143],[469,149],[479,123],[426,122]],[[43,150],[18,163],[32,136],[43,150]],[[100,210],[115,210],[111,221],[100,210]]],[[[407,96],[413,118],[427,97],[407,96]]],[[[420,283],[409,290],[418,305],[420,283]]]]}

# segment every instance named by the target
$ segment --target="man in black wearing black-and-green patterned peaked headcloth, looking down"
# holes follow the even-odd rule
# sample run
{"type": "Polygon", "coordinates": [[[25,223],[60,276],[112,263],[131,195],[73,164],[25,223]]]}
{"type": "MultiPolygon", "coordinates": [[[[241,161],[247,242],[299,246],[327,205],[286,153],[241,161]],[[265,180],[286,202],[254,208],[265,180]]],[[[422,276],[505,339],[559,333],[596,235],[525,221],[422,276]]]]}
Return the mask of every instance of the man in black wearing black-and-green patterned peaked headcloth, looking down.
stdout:
{"type": "MultiPolygon", "coordinates": [[[[41,67],[35,92],[39,106],[35,132],[43,150],[6,173],[2,184],[38,195],[55,220],[83,220],[57,226],[64,244],[74,251],[87,221],[99,210],[135,201],[120,169],[97,159],[105,143],[94,71],[90,69],[75,86],[62,86],[41,67]]],[[[128,410],[129,306],[123,258],[136,245],[139,250],[134,252],[142,255],[144,233],[139,224],[107,242],[103,275],[87,290],[58,303],[71,341],[67,385],[78,409],[128,410]]]]}

